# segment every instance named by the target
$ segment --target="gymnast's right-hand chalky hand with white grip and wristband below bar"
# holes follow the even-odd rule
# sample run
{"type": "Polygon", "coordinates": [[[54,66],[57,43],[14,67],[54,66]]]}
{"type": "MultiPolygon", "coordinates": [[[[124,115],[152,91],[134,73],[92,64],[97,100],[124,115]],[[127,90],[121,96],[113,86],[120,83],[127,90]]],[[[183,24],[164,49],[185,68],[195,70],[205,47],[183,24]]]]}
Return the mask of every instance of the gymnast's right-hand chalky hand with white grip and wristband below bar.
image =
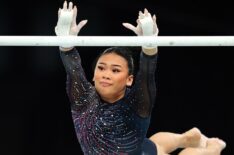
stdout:
{"type": "MultiPolygon", "coordinates": [[[[156,16],[144,9],[144,13],[139,11],[137,26],[130,23],[123,23],[123,26],[132,30],[138,36],[158,36],[158,27],[156,24],[156,16]]],[[[158,52],[157,46],[142,46],[142,51],[147,55],[154,55],[158,52]]]]}

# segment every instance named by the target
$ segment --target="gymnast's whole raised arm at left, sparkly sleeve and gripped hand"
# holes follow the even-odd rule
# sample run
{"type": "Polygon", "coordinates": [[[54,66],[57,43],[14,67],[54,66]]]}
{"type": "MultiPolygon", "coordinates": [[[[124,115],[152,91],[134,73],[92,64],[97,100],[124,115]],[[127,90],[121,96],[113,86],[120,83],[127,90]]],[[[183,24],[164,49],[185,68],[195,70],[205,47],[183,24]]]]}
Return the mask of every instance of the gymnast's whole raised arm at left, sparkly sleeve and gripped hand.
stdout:
{"type": "MultiPolygon", "coordinates": [[[[63,8],[58,11],[58,22],[55,33],[58,36],[78,35],[81,28],[87,23],[82,20],[76,24],[77,8],[72,2],[67,5],[65,1],[63,8]]],[[[80,55],[74,47],[60,47],[60,56],[67,72],[67,94],[73,110],[82,110],[92,100],[93,87],[87,81],[81,66],[80,55]]]]}

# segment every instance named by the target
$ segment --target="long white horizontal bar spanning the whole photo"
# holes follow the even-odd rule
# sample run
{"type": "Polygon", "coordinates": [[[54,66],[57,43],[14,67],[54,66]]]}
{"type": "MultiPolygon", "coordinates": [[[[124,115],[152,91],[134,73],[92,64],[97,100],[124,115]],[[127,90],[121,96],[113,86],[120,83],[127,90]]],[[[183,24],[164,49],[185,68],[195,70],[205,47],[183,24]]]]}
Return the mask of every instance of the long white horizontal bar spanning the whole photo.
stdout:
{"type": "Polygon", "coordinates": [[[0,36],[0,46],[234,46],[234,36],[0,36]]]}

